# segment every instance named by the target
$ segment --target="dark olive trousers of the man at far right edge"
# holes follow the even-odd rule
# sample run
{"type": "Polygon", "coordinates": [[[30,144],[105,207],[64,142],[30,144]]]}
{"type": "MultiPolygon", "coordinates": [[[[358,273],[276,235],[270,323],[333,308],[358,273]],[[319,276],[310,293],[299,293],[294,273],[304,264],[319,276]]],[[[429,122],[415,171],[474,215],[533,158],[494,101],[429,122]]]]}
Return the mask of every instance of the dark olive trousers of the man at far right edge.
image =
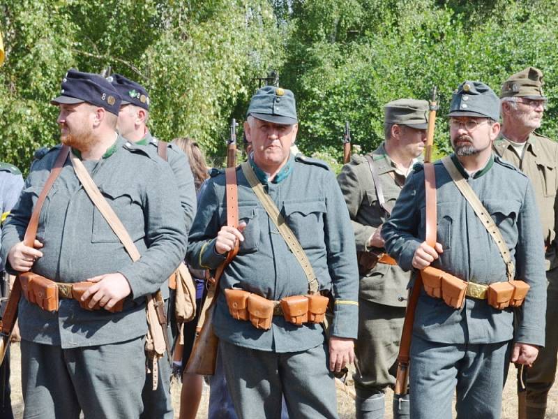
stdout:
{"type": "Polygon", "coordinates": [[[527,369],[527,417],[543,419],[548,391],[556,377],[558,357],[558,268],[546,272],[545,347],[538,352],[533,367],[527,369]]]}

